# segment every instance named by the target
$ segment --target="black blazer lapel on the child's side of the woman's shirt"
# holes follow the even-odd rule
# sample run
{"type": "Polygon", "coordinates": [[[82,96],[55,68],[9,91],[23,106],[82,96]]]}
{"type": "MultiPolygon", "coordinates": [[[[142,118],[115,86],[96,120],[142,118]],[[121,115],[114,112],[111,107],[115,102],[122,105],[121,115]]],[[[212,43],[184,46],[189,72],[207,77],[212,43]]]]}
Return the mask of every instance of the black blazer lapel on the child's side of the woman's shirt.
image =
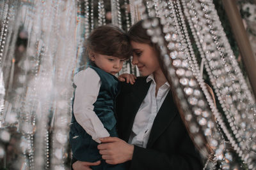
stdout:
{"type": "Polygon", "coordinates": [[[136,113],[138,112],[140,105],[143,102],[145,96],[147,95],[148,89],[150,87],[151,81],[148,81],[147,83],[146,80],[147,77],[143,78],[142,81],[138,81],[138,83],[135,83],[134,87],[132,88],[131,94],[127,94],[131,99],[131,103],[128,110],[125,111],[127,115],[127,131],[124,133],[125,141],[128,141],[129,139],[136,113]]]}

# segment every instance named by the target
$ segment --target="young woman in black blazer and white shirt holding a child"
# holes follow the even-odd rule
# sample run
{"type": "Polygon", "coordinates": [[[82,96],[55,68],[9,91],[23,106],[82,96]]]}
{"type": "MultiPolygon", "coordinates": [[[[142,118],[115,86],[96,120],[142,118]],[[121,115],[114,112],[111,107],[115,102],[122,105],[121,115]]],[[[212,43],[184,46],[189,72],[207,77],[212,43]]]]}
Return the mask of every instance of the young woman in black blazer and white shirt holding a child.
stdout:
{"type": "MultiPolygon", "coordinates": [[[[200,155],[173,102],[159,49],[150,41],[142,21],[128,32],[132,64],[142,77],[124,83],[116,100],[120,138],[101,138],[99,153],[108,164],[125,162],[128,169],[202,169],[200,155]]],[[[73,160],[74,162],[74,160],[73,160]]],[[[76,161],[72,167],[90,169],[100,162],[76,161]]]]}

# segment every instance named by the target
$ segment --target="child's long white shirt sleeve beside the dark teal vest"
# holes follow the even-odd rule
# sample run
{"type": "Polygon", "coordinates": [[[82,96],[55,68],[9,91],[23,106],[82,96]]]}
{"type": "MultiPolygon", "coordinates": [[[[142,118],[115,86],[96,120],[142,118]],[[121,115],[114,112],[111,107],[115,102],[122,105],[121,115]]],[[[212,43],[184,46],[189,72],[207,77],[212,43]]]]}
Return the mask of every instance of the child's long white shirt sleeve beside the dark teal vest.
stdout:
{"type": "Polygon", "coordinates": [[[73,105],[74,117],[77,123],[92,136],[92,139],[100,143],[99,138],[109,136],[109,132],[93,111],[93,103],[95,103],[99,94],[100,77],[89,67],[74,76],[74,83],[76,85],[73,105]]]}

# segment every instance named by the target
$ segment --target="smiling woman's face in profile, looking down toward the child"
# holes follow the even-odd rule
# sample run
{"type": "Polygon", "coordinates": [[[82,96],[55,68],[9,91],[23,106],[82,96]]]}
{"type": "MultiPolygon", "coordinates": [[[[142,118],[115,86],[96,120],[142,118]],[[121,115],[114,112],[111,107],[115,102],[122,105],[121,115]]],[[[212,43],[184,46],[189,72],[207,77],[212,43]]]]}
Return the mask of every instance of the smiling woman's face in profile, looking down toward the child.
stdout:
{"type": "Polygon", "coordinates": [[[132,64],[137,65],[141,76],[148,76],[161,68],[157,60],[157,53],[154,48],[146,43],[131,41],[132,64]]]}

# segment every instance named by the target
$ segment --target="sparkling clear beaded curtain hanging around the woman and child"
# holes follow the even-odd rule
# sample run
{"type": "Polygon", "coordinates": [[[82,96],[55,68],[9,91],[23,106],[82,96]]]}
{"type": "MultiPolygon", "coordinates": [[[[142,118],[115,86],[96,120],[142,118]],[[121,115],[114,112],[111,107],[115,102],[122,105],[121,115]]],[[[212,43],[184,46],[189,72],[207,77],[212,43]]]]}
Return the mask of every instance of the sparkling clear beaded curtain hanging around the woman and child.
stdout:
{"type": "MultiPolygon", "coordinates": [[[[70,168],[72,78],[86,65],[84,39],[99,25],[127,31],[144,19],[204,169],[256,169],[255,97],[212,0],[6,0],[0,9],[1,167],[70,168]]],[[[138,69],[129,60],[120,73],[138,69]]]]}

